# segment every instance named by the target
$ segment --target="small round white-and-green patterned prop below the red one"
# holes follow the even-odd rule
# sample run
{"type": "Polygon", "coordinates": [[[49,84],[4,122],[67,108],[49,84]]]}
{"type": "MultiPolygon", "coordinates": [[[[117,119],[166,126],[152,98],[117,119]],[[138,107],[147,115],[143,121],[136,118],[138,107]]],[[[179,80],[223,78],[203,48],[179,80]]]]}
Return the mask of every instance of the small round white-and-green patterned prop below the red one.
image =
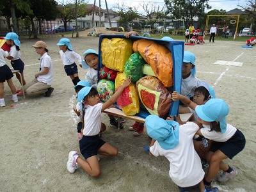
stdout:
{"type": "Polygon", "coordinates": [[[108,79],[101,79],[98,83],[97,90],[100,100],[106,102],[115,93],[115,83],[108,79]]]}

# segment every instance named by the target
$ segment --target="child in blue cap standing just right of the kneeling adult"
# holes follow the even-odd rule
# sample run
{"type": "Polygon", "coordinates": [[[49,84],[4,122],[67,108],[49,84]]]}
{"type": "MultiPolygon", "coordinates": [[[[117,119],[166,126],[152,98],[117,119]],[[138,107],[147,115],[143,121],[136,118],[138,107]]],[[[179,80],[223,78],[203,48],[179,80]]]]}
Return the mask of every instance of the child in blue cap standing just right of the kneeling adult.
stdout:
{"type": "Polygon", "coordinates": [[[80,67],[82,67],[81,56],[73,51],[73,47],[68,38],[61,38],[57,45],[60,46],[60,57],[64,65],[65,72],[71,78],[73,84],[76,85],[80,79],[75,60],[77,59],[80,67]]]}

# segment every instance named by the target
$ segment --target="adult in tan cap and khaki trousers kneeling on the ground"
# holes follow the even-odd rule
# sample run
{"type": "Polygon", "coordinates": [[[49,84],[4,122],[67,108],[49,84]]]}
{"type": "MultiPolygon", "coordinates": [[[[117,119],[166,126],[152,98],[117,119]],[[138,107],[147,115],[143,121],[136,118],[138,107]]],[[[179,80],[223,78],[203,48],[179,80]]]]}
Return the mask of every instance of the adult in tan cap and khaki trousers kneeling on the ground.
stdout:
{"type": "Polygon", "coordinates": [[[52,59],[47,54],[47,45],[43,41],[38,41],[35,45],[35,51],[40,54],[39,72],[36,72],[35,79],[24,86],[24,91],[29,96],[44,94],[44,97],[50,97],[54,88],[51,87],[53,79],[52,59]]]}

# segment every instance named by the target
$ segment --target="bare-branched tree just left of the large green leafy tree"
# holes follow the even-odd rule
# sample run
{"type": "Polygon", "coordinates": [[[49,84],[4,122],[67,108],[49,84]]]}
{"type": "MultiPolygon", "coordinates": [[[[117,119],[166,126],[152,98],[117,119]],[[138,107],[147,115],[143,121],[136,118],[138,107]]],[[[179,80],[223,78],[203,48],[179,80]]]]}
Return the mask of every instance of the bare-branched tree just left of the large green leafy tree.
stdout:
{"type": "Polygon", "coordinates": [[[151,28],[153,29],[154,24],[163,15],[165,7],[160,7],[153,2],[143,3],[141,6],[143,10],[147,13],[148,24],[150,24],[151,28]]]}

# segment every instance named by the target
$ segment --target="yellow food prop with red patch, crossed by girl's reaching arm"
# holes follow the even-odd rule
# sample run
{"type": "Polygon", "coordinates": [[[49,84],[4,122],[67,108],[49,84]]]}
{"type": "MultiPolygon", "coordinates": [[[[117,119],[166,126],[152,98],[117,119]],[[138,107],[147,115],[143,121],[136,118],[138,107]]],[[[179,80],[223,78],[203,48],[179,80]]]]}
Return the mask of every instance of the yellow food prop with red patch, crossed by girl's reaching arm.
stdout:
{"type": "MultiPolygon", "coordinates": [[[[115,81],[116,90],[121,84],[124,83],[126,78],[127,76],[124,73],[117,74],[115,81]]],[[[125,115],[135,115],[136,113],[140,112],[139,96],[134,83],[131,83],[127,88],[124,89],[116,100],[116,104],[119,109],[122,109],[125,115]]]]}

